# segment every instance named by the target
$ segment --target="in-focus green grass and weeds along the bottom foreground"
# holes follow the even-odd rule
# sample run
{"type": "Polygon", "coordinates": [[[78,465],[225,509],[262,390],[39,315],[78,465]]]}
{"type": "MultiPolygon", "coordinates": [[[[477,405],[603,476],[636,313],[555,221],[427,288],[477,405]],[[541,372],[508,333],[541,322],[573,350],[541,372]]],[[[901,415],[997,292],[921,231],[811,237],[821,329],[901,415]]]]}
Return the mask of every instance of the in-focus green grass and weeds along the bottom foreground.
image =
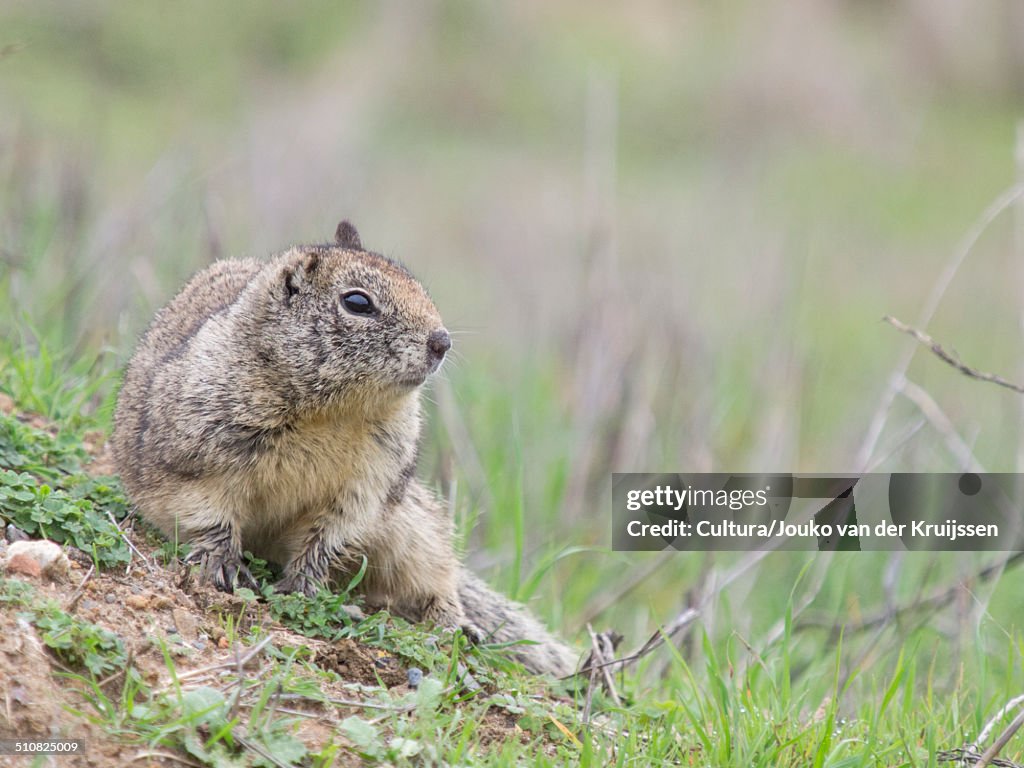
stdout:
{"type": "MultiPolygon", "coordinates": [[[[274,650],[255,675],[228,675],[216,686],[199,687],[177,681],[174,657],[165,649],[169,687],[155,690],[129,669],[127,682],[113,695],[99,678],[124,665],[120,639],[69,616],[22,583],[0,584],[0,601],[28,609],[43,642],[66,664],[81,668],[81,673],[68,673],[81,685],[87,705],[76,714],[111,736],[176,748],[204,765],[267,765],[276,759],[326,766],[356,755],[370,764],[398,765],[422,760],[631,765],[639,759],[643,764],[737,767],[926,766],[936,765],[938,750],[970,742],[990,715],[987,697],[974,685],[952,697],[936,695],[934,689],[945,681],[935,679],[934,669],[918,679],[905,664],[909,652],[871,673],[872,700],[850,706],[839,683],[841,645],[821,659],[825,674],[816,684],[804,677],[794,685],[787,664],[792,638],[784,637],[737,674],[746,649],[736,642],[716,649],[703,635],[702,664],[691,666],[675,654],[660,695],[634,688],[632,675],[620,679],[627,703],[614,706],[597,693],[589,727],[579,723],[572,706],[522,695],[515,688],[467,696],[454,678],[431,678],[413,693],[369,700],[366,715],[337,722],[337,741],[312,752],[295,735],[296,718],[271,707],[271,699],[283,694],[324,700],[317,680],[329,673],[303,660],[301,648],[274,650]],[[515,717],[544,745],[528,739],[497,744],[490,752],[474,749],[475,724],[490,709],[515,717]],[[555,720],[572,735],[566,736],[555,720]]],[[[395,634],[407,632],[398,628],[395,634]]],[[[977,672],[985,677],[984,668],[977,672]]],[[[1002,694],[1021,682],[1018,672],[992,692],[1002,694]]]]}

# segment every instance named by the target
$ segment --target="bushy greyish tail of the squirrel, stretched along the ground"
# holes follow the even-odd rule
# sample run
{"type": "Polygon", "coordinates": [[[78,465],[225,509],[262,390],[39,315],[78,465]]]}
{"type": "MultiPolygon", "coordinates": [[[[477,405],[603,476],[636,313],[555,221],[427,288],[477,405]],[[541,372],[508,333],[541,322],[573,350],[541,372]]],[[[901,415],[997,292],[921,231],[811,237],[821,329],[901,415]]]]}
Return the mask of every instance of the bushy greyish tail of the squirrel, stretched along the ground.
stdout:
{"type": "Polygon", "coordinates": [[[565,677],[575,672],[578,654],[552,635],[522,605],[500,595],[463,568],[459,598],[466,618],[483,632],[486,642],[514,643],[508,653],[538,675],[565,677]]]}

